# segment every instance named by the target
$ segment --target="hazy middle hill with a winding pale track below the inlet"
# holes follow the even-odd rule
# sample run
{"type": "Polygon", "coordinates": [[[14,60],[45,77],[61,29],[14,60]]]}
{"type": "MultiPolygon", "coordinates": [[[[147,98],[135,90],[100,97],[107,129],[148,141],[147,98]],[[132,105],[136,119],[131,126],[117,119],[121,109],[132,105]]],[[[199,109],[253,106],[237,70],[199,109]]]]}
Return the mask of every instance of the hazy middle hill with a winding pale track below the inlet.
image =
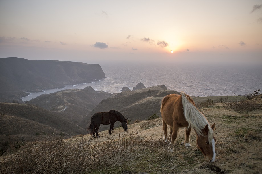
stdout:
{"type": "Polygon", "coordinates": [[[63,114],[66,118],[78,123],[110,93],[95,91],[91,86],[84,89],[66,89],[50,94],[42,94],[30,101],[50,111],[63,114]]]}

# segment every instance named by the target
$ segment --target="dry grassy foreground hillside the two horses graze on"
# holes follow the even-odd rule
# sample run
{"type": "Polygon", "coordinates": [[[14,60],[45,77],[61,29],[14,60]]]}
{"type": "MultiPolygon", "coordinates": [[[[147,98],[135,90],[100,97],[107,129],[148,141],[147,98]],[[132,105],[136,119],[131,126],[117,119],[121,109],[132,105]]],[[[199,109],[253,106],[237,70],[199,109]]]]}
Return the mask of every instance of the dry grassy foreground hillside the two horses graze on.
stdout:
{"type": "MultiPolygon", "coordinates": [[[[196,146],[191,131],[190,148],[185,148],[185,128],[179,131],[176,150],[167,151],[163,142],[161,118],[128,125],[128,131],[116,128],[101,138],[82,135],[62,140],[48,138],[14,150],[16,155],[2,156],[2,173],[261,173],[262,171],[262,96],[245,101],[255,106],[249,111],[228,108],[217,103],[202,107],[209,122],[216,123],[216,162],[209,163],[196,146]],[[228,109],[226,109],[228,108],[228,109]]],[[[235,106],[241,104],[234,102],[235,106]]]]}

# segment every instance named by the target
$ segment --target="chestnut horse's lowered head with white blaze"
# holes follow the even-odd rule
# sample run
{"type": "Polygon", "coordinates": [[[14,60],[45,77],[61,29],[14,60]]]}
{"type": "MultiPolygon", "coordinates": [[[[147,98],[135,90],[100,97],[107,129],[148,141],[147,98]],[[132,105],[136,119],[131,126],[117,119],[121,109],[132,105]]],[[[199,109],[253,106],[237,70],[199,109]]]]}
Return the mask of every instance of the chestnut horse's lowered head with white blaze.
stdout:
{"type": "MultiPolygon", "coordinates": [[[[211,126],[211,128],[215,129],[215,123],[211,126]]],[[[202,153],[205,155],[206,160],[208,162],[215,162],[216,160],[216,152],[215,152],[215,142],[216,138],[213,135],[212,139],[208,138],[208,125],[205,126],[204,129],[202,129],[203,135],[197,135],[197,146],[200,148],[202,153]],[[210,142],[211,140],[211,142],[210,142]]]]}

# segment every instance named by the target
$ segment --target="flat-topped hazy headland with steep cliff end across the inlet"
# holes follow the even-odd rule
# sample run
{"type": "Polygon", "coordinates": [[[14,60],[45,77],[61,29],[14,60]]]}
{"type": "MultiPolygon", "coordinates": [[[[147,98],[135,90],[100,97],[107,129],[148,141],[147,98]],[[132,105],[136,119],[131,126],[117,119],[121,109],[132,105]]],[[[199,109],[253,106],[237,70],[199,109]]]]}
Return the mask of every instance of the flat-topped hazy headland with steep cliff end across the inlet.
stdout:
{"type": "Polygon", "coordinates": [[[28,92],[60,88],[105,78],[99,64],[58,60],[0,58],[0,101],[11,102],[28,92]]]}

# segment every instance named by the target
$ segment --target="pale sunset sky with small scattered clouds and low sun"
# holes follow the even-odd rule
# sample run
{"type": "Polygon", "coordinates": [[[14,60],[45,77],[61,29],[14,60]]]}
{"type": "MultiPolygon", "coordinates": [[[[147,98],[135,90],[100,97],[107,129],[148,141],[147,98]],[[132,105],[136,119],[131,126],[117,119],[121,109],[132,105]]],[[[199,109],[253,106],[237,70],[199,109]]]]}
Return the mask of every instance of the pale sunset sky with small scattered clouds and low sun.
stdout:
{"type": "Polygon", "coordinates": [[[0,57],[262,65],[262,0],[0,0],[0,57]]]}

